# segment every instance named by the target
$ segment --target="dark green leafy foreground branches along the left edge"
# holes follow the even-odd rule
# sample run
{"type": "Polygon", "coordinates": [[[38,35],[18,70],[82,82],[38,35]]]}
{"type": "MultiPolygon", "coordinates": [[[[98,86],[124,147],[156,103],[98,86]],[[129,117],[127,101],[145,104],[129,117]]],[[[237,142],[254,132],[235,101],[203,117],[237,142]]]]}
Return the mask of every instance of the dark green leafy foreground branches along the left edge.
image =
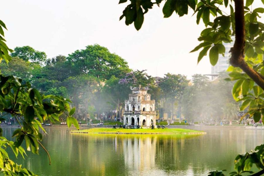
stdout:
{"type": "MultiPolygon", "coordinates": [[[[6,29],[6,26],[0,20],[0,59],[8,63],[11,61],[8,51],[12,50],[4,43],[6,40],[3,38],[3,28],[6,29]]],[[[53,95],[44,96],[37,89],[31,88],[29,82],[21,83],[22,79],[19,77],[0,75],[0,121],[4,121],[5,116],[11,115],[20,124],[20,127],[13,132],[15,142],[3,137],[2,128],[0,128],[0,173],[4,175],[34,175],[33,172],[13,162],[6,150],[11,148],[16,157],[21,155],[24,158],[26,152],[21,146],[23,141],[26,143],[27,150],[35,154],[38,154],[39,147],[42,147],[50,159],[48,150],[40,142],[43,138],[40,129],[45,132],[41,126],[43,121],[58,121],[59,116],[65,114],[68,127],[73,124],[79,129],[78,121],[72,117],[75,108],[70,109],[69,99],[53,95]]]]}

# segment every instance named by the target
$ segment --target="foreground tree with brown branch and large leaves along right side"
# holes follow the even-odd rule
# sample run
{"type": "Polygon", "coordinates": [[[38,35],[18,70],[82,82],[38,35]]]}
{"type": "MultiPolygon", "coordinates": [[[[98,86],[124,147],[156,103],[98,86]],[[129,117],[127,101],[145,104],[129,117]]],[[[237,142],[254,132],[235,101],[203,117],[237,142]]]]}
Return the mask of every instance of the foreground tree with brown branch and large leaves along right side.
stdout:
{"type": "MultiPolygon", "coordinates": [[[[197,24],[201,18],[204,25],[207,27],[201,32],[199,41],[200,45],[195,47],[191,52],[203,48],[198,56],[198,63],[207,55],[209,51],[209,59],[211,65],[215,65],[218,61],[219,54],[225,53],[224,43],[231,42],[231,36],[235,36],[235,43],[230,50],[231,57],[229,63],[231,67],[228,71],[231,73],[228,80],[236,80],[233,86],[233,97],[237,101],[243,101],[241,110],[248,107],[248,113],[253,116],[254,121],[258,122],[262,119],[264,123],[264,104],[263,104],[263,89],[264,89],[264,65],[262,63],[263,47],[264,47],[264,24],[258,21],[259,13],[264,13],[264,9],[259,7],[253,9],[252,3],[254,0],[187,0],[173,1],[167,0],[163,6],[163,14],[168,18],[175,11],[179,16],[188,14],[189,7],[197,13],[197,24]],[[234,4],[232,4],[234,3],[234,4]],[[244,6],[245,5],[245,6],[244,6]],[[225,13],[221,8],[230,7],[230,13],[225,13]],[[234,8],[233,8],[234,6],[234,8]],[[251,8],[249,8],[251,6],[251,8]],[[210,21],[210,16],[214,19],[210,21]],[[233,31],[230,29],[232,27],[233,31]],[[246,57],[245,57],[246,54],[246,57]]],[[[120,0],[120,3],[125,3],[127,0],[120,0]]],[[[134,23],[134,26],[139,30],[144,21],[144,15],[153,5],[160,6],[162,0],[137,0],[130,3],[123,10],[120,20],[125,17],[126,25],[134,23]],[[144,12],[143,12],[144,10],[144,12]]],[[[263,4],[264,1],[262,0],[263,4]]],[[[247,115],[246,114],[246,115],[247,115]]],[[[244,116],[243,116],[244,117],[244,116]]],[[[242,118],[243,118],[242,117],[242,118]]],[[[231,175],[241,175],[248,171],[253,164],[259,169],[259,172],[254,175],[264,173],[263,156],[264,144],[257,146],[256,151],[238,155],[236,157],[237,172],[232,172],[231,175]],[[245,162],[248,165],[245,166],[245,162]]],[[[224,175],[222,171],[213,171],[209,175],[224,175]]]]}

